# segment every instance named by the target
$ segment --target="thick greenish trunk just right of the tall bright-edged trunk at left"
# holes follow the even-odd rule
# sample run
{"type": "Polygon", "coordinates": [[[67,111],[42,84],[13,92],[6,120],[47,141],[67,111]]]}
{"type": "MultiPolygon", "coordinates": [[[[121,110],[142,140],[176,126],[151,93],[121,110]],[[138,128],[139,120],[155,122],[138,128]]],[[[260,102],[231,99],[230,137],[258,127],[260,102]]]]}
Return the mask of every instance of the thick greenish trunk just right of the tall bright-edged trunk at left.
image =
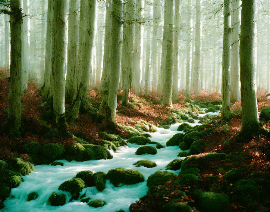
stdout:
{"type": "Polygon", "coordinates": [[[67,64],[67,95],[71,102],[77,95],[78,79],[77,65],[78,65],[78,4],[76,0],[69,3],[68,16],[68,64],[67,64]]]}

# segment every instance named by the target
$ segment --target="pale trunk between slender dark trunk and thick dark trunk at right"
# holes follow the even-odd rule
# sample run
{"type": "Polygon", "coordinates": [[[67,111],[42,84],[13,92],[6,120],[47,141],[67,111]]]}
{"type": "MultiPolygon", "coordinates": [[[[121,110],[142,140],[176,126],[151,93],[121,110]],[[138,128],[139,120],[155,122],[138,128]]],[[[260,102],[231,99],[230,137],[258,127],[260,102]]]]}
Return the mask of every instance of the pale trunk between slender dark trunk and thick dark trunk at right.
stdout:
{"type": "MultiPolygon", "coordinates": [[[[239,64],[239,33],[240,33],[240,0],[231,3],[231,103],[240,101],[240,64],[239,64]]],[[[269,36],[268,36],[269,37],[269,36]]],[[[270,50],[269,50],[270,51],[270,50]]]]}

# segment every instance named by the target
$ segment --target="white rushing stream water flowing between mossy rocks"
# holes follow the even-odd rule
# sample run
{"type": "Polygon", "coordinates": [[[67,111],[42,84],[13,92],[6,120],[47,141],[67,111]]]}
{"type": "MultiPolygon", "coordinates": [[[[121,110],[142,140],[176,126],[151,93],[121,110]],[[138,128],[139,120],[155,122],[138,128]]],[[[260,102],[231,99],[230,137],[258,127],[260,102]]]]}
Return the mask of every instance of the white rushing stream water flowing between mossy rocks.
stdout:
{"type": "MultiPolygon", "coordinates": [[[[218,113],[207,113],[217,115],[218,113]]],[[[191,126],[198,125],[199,120],[195,123],[189,123],[191,126]]],[[[19,187],[11,189],[11,195],[4,202],[5,208],[3,212],[51,212],[51,211],[106,211],[116,212],[120,209],[128,211],[130,204],[137,201],[140,197],[147,194],[148,187],[146,186],[147,178],[155,173],[157,170],[165,170],[165,166],[177,158],[181,150],[178,146],[166,146],[166,142],[176,133],[183,133],[177,131],[180,123],[171,125],[170,129],[158,128],[156,133],[150,133],[152,141],[159,142],[165,148],[158,149],[158,154],[155,155],[135,155],[137,148],[140,145],[130,144],[127,146],[119,147],[117,152],[112,152],[113,159],[111,160],[98,160],[98,161],[65,161],[64,166],[50,166],[40,165],[35,166],[36,172],[32,172],[27,176],[23,176],[24,182],[19,187]],[[135,167],[132,164],[139,160],[150,160],[157,164],[154,168],[135,167]],[[145,177],[145,181],[134,185],[124,185],[121,187],[113,186],[109,180],[106,182],[106,188],[102,192],[98,192],[96,187],[88,187],[83,189],[81,194],[86,192],[86,196],[91,200],[101,199],[106,202],[103,207],[89,207],[86,203],[77,201],[68,202],[71,198],[69,192],[59,191],[58,187],[66,180],[73,178],[78,172],[83,170],[90,170],[94,173],[102,171],[107,173],[110,169],[114,168],[135,169],[140,171],[145,177]],[[27,201],[28,195],[32,192],[37,192],[39,197],[32,201],[27,201]],[[52,192],[64,193],[67,195],[67,203],[63,206],[51,206],[48,204],[48,199],[52,192]]],[[[155,145],[152,145],[155,147],[155,145]]],[[[168,170],[171,171],[171,170],[168,170]]],[[[178,175],[179,170],[171,171],[178,175]]]]}

